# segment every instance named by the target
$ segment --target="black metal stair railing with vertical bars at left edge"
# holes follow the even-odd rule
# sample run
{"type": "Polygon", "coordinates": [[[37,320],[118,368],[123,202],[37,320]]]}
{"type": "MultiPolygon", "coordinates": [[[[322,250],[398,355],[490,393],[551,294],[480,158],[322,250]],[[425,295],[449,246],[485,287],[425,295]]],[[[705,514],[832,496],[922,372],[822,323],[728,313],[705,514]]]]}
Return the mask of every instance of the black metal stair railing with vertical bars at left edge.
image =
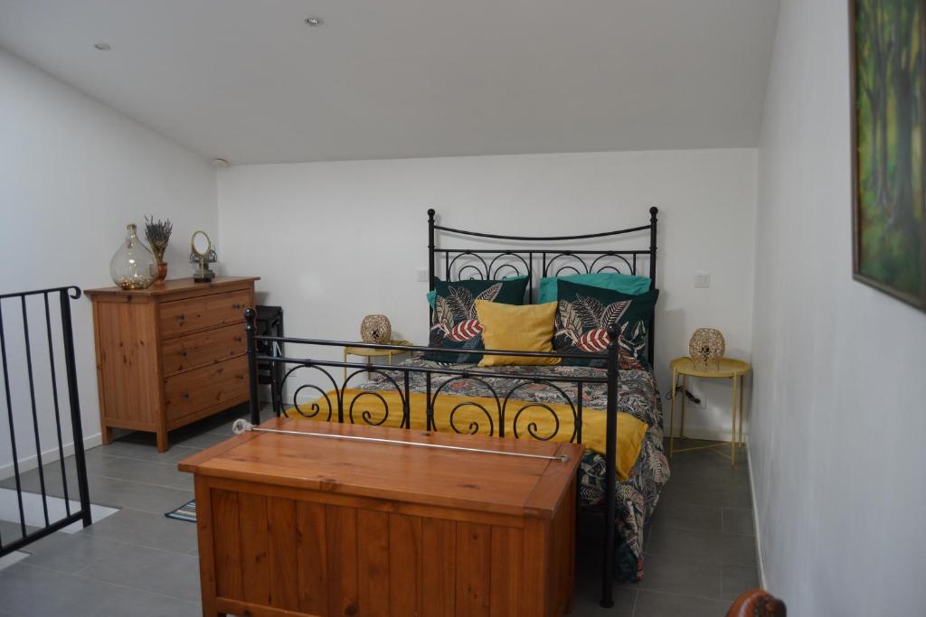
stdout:
{"type": "Polygon", "coordinates": [[[81,428],[81,403],[77,391],[77,372],[74,364],[74,331],[71,326],[70,301],[77,300],[81,297],[81,290],[77,287],[58,287],[47,290],[22,291],[19,293],[6,293],[0,295],[0,360],[3,365],[4,392],[6,401],[6,417],[9,426],[10,450],[13,456],[13,475],[16,479],[16,494],[19,506],[19,528],[21,537],[16,540],[5,542],[0,537],[0,556],[6,555],[14,550],[48,536],[59,529],[67,527],[69,524],[82,522],[83,526],[91,524],[90,517],[90,492],[87,487],[87,465],[83,452],[83,430],[81,428]],[[29,328],[29,307],[27,298],[30,296],[42,296],[44,302],[45,327],[44,334],[48,342],[48,362],[51,376],[51,394],[54,402],[55,425],[57,437],[57,454],[61,464],[61,482],[64,491],[65,512],[66,515],[58,520],[51,520],[48,514],[48,493],[45,485],[45,471],[42,463],[42,439],[39,435],[39,411],[36,406],[35,398],[35,377],[32,363],[32,347],[29,328]],[[61,342],[64,353],[64,369],[68,381],[68,403],[70,407],[70,424],[71,437],[74,441],[74,464],[77,471],[77,485],[81,507],[72,511],[70,506],[70,495],[68,489],[68,474],[65,469],[65,452],[64,439],[61,432],[62,409],[58,401],[57,374],[55,364],[55,343],[52,335],[52,311],[49,302],[49,296],[57,296],[61,318],[61,342]],[[21,472],[19,469],[19,449],[17,448],[16,425],[13,414],[13,393],[10,387],[9,369],[12,363],[9,362],[7,354],[6,328],[4,327],[3,305],[5,300],[19,300],[19,310],[22,313],[22,335],[23,335],[23,358],[16,358],[19,362],[26,365],[26,373],[29,381],[29,397],[32,419],[32,434],[35,445],[35,456],[39,474],[39,487],[42,491],[42,505],[44,513],[44,526],[31,533],[26,532],[26,517],[23,510],[23,488],[21,482],[21,472]]]}

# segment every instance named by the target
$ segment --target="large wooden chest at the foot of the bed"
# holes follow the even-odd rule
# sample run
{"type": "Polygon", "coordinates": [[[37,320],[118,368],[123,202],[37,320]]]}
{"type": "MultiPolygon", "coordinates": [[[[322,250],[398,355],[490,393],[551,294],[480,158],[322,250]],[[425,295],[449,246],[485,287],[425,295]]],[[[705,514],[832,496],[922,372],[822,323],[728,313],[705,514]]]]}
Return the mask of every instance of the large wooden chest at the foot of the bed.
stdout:
{"type": "Polygon", "coordinates": [[[568,611],[581,445],[285,418],[261,426],[493,453],[249,432],[184,460],[204,615],[568,611]]]}

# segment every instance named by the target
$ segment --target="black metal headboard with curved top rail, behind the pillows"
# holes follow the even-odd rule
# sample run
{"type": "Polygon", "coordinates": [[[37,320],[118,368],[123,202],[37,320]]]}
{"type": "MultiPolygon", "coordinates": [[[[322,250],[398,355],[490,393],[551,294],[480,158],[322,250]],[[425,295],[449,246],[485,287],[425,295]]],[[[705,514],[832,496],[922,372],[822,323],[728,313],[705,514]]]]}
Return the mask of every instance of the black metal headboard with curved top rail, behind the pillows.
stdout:
{"type": "MultiPolygon", "coordinates": [[[[659,209],[649,209],[649,225],[634,228],[602,231],[575,236],[505,236],[466,229],[448,228],[434,222],[436,212],[428,210],[428,289],[434,289],[434,278],[444,280],[463,280],[467,278],[505,278],[526,276],[528,289],[533,293],[534,267],[537,266],[541,277],[559,277],[570,274],[587,274],[595,272],[619,272],[638,274],[640,262],[648,263],[650,289],[656,288],[656,240],[657,214],[659,209]],[[641,231],[649,231],[649,248],[641,250],[619,249],[568,249],[562,244],[544,248],[546,242],[582,242],[600,238],[625,236],[641,231]],[[487,243],[494,241],[519,242],[512,248],[499,246],[494,248],[449,248],[436,246],[438,231],[451,236],[477,238],[487,243]],[[538,248],[531,244],[541,245],[538,248]],[[443,260],[443,270],[438,270],[439,261],[443,260]],[[439,274],[440,273],[440,274],[439,274]]],[[[653,366],[655,338],[655,315],[653,327],[649,328],[647,340],[647,358],[653,366]]]]}

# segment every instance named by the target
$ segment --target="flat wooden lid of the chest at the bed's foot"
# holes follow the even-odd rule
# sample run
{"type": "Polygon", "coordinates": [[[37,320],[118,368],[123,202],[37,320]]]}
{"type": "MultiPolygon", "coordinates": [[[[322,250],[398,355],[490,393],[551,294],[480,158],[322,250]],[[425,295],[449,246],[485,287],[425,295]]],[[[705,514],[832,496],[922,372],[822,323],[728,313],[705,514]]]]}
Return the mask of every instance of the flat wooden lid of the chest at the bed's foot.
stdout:
{"type": "Polygon", "coordinates": [[[181,471],[357,497],[551,518],[576,474],[584,450],[580,444],[304,419],[276,418],[261,427],[566,456],[568,460],[249,432],[181,461],[181,471]]]}

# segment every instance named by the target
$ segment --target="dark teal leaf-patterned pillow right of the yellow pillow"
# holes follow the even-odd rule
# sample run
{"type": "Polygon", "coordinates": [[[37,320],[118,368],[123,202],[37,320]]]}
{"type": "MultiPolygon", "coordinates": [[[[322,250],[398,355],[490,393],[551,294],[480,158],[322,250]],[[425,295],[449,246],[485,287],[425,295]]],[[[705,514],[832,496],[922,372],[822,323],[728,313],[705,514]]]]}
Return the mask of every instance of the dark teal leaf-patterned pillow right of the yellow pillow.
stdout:
{"type": "MultiPolygon", "coordinates": [[[[553,346],[562,353],[603,353],[610,337],[607,330],[620,328],[620,368],[649,370],[646,339],[652,324],[659,290],[641,295],[604,290],[568,281],[557,281],[557,323],[553,346]]],[[[564,360],[563,364],[604,366],[602,360],[564,360]]]]}

